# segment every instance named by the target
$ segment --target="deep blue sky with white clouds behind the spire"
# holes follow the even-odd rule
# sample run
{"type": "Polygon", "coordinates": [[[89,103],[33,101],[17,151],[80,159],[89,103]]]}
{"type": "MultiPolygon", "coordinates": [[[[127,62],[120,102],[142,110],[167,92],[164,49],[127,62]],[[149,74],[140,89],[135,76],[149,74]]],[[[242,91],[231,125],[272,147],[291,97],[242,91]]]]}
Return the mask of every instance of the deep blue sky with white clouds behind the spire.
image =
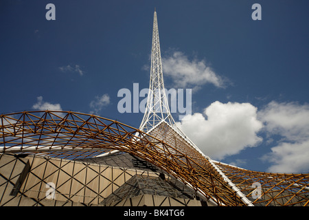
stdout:
{"type": "Polygon", "coordinates": [[[155,8],[165,87],[194,89],[181,129],[222,162],[308,173],[306,0],[1,1],[0,113],[56,108],[139,127],[143,113],[119,113],[117,92],[149,85],[155,8]]]}

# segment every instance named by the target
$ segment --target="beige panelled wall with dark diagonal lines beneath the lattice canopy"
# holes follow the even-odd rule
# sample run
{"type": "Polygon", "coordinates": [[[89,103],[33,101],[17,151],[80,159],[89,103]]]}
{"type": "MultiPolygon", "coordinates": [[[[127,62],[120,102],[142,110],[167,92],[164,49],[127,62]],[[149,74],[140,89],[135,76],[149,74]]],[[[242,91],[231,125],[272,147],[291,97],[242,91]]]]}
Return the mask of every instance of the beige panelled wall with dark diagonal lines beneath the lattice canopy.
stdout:
{"type": "MultiPolygon", "coordinates": [[[[0,206],[100,206],[108,195],[134,175],[158,177],[159,173],[67,159],[32,155],[17,158],[1,154],[0,206]]],[[[200,201],[193,199],[181,199],[179,202],[155,195],[141,195],[110,206],[160,204],[201,206],[200,201]]]]}

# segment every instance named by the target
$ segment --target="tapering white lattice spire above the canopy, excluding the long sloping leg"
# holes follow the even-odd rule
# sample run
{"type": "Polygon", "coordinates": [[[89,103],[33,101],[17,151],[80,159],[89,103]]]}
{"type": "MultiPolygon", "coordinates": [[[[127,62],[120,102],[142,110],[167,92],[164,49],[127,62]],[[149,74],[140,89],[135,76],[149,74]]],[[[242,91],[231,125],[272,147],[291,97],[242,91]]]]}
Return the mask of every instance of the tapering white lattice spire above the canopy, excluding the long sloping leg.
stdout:
{"type": "Polygon", "coordinates": [[[139,129],[141,129],[141,131],[148,132],[162,121],[165,121],[172,126],[175,124],[170,113],[168,98],[164,88],[157,12],[155,11],[152,30],[151,69],[148,100],[144,118],[141,121],[139,129]]]}

